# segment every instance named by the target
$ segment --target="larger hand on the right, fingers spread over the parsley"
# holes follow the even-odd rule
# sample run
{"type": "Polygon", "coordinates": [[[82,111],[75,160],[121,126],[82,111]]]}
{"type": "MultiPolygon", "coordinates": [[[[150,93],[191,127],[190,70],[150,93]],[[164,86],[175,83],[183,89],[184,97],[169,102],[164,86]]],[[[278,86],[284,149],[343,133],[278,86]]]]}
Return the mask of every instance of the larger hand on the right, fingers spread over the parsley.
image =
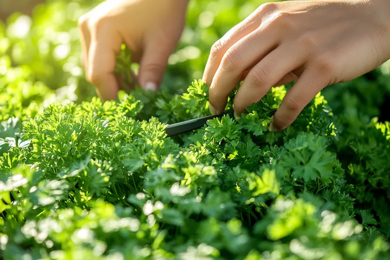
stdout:
{"type": "Polygon", "coordinates": [[[219,114],[239,80],[234,114],[273,86],[298,79],[270,131],[289,126],[324,87],[357,78],[390,59],[389,0],[304,0],[261,5],[215,42],[203,80],[219,114]]]}

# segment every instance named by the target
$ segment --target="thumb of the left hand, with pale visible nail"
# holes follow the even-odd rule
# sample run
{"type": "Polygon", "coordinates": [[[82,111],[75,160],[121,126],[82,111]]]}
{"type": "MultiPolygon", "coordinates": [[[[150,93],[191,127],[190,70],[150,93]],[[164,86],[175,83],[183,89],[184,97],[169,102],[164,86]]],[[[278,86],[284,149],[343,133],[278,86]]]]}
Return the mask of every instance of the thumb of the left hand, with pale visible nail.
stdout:
{"type": "Polygon", "coordinates": [[[161,84],[173,48],[158,40],[146,45],[139,64],[138,82],[144,89],[156,91],[161,84]]]}

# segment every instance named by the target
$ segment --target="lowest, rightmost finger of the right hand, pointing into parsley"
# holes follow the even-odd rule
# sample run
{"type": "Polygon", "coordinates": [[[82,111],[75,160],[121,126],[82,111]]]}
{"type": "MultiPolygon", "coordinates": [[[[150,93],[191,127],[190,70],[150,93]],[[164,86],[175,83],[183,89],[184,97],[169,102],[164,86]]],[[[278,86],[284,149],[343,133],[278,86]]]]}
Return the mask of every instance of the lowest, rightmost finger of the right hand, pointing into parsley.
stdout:
{"type": "Polygon", "coordinates": [[[329,80],[320,73],[305,70],[287,92],[279,109],[273,115],[270,131],[282,131],[288,127],[315,95],[328,86],[328,84],[329,80]]]}

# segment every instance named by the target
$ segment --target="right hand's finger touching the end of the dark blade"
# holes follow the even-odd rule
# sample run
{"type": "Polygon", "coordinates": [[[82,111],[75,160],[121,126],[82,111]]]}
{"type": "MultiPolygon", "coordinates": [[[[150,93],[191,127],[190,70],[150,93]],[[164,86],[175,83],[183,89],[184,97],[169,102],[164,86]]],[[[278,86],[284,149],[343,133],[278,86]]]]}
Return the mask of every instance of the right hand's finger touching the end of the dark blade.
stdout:
{"type": "Polygon", "coordinates": [[[259,27],[226,52],[209,90],[210,105],[215,114],[223,111],[228,95],[243,73],[272,51],[277,45],[277,39],[277,31],[271,30],[270,27],[259,27]]]}

